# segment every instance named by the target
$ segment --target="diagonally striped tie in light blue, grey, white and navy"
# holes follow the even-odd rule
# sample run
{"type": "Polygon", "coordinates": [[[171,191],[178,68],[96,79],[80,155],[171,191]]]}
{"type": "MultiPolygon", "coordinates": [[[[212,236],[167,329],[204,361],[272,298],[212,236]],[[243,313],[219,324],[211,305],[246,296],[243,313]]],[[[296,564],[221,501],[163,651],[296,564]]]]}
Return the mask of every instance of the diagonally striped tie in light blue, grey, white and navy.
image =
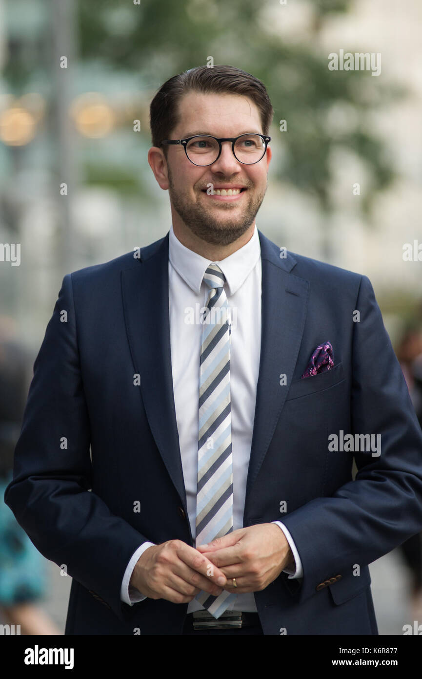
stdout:
{"type": "MultiPolygon", "coordinates": [[[[196,546],[233,530],[233,460],[231,454],[229,305],[225,276],[216,264],[204,275],[210,288],[203,319],[199,360],[199,434],[196,496],[196,546]]],[[[196,599],[214,618],[236,595],[201,591],[196,599]]]]}

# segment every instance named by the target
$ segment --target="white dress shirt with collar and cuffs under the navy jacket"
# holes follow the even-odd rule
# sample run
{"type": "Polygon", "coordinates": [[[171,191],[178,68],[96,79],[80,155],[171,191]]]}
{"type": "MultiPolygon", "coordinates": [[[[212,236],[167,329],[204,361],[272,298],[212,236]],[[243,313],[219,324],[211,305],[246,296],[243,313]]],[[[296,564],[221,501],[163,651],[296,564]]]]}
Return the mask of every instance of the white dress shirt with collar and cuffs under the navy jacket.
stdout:
{"type": "MultiPolygon", "coordinates": [[[[174,407],[187,496],[187,513],[195,536],[199,355],[203,325],[198,320],[206,306],[209,288],[203,278],[211,263],[185,247],[170,227],[168,253],[168,304],[170,312],[170,346],[174,407]],[[191,311],[190,311],[191,310],[191,311]],[[190,315],[189,315],[190,314],[190,315]],[[193,323],[192,323],[193,318],[193,323]],[[190,322],[189,322],[190,321],[190,322]]],[[[231,443],[233,449],[233,530],[243,528],[246,479],[256,402],[261,356],[261,246],[255,225],[252,238],[233,254],[215,262],[225,275],[225,292],[231,309],[230,390],[231,443]]],[[[292,536],[281,521],[280,526],[294,555],[296,569],[284,569],[289,578],[303,576],[301,559],[292,536]]],[[[121,583],[121,600],[132,606],[146,599],[129,585],[140,555],[155,543],[142,543],[132,555],[121,583]]],[[[187,612],[204,610],[196,599],[189,602],[187,612]]],[[[256,612],[252,592],[238,594],[227,610],[256,612]]]]}

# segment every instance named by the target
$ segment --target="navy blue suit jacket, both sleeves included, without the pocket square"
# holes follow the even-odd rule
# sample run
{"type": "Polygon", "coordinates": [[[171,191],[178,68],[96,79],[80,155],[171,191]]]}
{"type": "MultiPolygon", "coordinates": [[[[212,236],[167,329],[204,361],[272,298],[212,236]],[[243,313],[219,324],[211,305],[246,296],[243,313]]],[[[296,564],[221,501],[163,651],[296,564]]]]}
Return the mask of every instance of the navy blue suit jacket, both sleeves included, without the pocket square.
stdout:
{"type": "MultiPolygon", "coordinates": [[[[302,580],[282,572],[254,593],[261,625],[266,635],[377,634],[368,564],[422,529],[421,428],[368,278],[283,259],[258,235],[262,344],[244,526],[284,521],[303,564],[302,580]],[[333,369],[301,380],[326,340],[333,369]],[[380,456],[354,453],[354,480],[353,452],[328,449],[340,430],[381,434],[380,456]]],[[[168,234],[140,258],[64,276],[5,502],[73,578],[66,634],[181,634],[187,604],[120,600],[142,542],[194,545],[172,386],[168,234]]]]}

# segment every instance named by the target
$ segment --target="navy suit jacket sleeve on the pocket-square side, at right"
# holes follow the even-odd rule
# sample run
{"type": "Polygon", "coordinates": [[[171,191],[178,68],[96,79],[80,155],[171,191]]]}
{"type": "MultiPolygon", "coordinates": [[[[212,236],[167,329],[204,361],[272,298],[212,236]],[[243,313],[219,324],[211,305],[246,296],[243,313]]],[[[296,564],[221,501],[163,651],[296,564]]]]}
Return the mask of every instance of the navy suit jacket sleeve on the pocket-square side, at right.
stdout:
{"type": "Polygon", "coordinates": [[[355,452],[355,480],[284,517],[303,566],[299,601],[422,529],[422,432],[366,276],[355,309],[360,322],[353,323],[350,433],[381,435],[381,455],[355,452]]]}

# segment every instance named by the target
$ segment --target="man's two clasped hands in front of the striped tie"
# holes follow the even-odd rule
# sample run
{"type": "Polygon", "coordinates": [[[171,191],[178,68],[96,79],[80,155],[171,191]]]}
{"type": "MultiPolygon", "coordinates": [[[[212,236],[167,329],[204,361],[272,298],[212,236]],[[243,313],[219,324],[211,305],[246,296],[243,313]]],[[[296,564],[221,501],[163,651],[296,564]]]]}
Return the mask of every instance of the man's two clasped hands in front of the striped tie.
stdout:
{"type": "Polygon", "coordinates": [[[196,549],[182,540],[149,547],[138,559],[130,585],[151,599],[181,604],[202,590],[214,596],[223,589],[261,591],[286,566],[294,568],[294,558],[284,532],[277,524],[258,524],[196,549]]]}

